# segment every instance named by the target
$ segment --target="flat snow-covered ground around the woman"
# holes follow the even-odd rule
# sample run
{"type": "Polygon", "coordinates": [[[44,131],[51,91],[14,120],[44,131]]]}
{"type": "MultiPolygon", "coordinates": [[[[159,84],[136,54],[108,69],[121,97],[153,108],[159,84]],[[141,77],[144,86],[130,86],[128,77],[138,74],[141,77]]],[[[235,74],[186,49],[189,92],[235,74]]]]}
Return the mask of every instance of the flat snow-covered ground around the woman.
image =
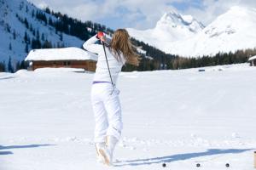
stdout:
{"type": "Polygon", "coordinates": [[[0,169],[253,169],[255,75],[248,64],[121,73],[124,131],[105,167],[92,140],[93,74],[0,73],[0,169]]]}

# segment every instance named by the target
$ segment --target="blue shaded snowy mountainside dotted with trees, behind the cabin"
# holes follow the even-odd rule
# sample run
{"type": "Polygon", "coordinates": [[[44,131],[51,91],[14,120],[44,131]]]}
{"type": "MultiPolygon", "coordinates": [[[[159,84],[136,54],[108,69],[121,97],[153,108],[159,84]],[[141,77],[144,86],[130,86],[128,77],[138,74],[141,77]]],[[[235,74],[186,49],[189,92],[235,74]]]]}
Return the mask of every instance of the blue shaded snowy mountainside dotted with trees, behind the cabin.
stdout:
{"type": "Polygon", "coordinates": [[[25,59],[31,49],[32,40],[39,39],[42,46],[51,42],[53,47],[81,47],[83,42],[77,37],[55,31],[37,19],[37,14],[45,14],[47,19],[58,20],[55,16],[45,13],[26,0],[0,0],[0,61],[12,63],[25,59]]]}

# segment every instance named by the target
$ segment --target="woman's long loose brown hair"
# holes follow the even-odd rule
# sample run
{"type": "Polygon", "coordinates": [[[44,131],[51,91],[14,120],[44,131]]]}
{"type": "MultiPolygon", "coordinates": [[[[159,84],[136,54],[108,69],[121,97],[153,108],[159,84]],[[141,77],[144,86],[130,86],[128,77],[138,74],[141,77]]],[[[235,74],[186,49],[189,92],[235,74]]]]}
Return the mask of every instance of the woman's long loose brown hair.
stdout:
{"type": "Polygon", "coordinates": [[[129,34],[125,29],[118,29],[113,32],[110,47],[118,61],[121,61],[120,52],[122,52],[128,64],[139,65],[139,55],[135,52],[129,34]]]}

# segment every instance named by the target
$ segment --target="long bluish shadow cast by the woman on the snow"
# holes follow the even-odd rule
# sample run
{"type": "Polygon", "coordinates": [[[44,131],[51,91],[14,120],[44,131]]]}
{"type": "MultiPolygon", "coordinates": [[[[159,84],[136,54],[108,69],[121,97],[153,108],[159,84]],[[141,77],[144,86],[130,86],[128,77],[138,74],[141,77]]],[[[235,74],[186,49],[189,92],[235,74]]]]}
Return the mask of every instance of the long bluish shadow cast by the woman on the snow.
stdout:
{"type": "Polygon", "coordinates": [[[153,157],[147,159],[135,159],[135,160],[128,160],[128,161],[121,161],[114,167],[124,167],[124,166],[141,166],[141,165],[150,165],[150,164],[157,164],[163,162],[172,162],[172,161],[182,161],[182,160],[189,160],[195,157],[201,156],[214,156],[214,155],[223,155],[223,154],[239,154],[241,152],[245,152],[247,150],[253,149],[210,149],[204,152],[197,152],[197,153],[187,153],[187,154],[177,154],[173,156],[161,156],[161,157],[153,157]]]}

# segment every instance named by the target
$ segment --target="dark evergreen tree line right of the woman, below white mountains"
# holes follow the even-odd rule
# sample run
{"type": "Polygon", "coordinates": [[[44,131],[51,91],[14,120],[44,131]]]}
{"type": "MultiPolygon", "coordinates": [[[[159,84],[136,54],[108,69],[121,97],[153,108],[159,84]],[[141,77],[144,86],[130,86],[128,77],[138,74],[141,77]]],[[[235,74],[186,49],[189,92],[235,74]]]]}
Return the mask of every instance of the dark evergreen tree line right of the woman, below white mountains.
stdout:
{"type": "Polygon", "coordinates": [[[123,68],[123,71],[178,70],[214,65],[232,65],[246,63],[253,55],[256,55],[256,48],[237,50],[235,53],[218,53],[214,56],[202,56],[197,58],[174,56],[173,58],[165,59],[163,57],[165,61],[162,63],[156,59],[143,58],[139,66],[135,67],[133,65],[126,65],[123,68]]]}

